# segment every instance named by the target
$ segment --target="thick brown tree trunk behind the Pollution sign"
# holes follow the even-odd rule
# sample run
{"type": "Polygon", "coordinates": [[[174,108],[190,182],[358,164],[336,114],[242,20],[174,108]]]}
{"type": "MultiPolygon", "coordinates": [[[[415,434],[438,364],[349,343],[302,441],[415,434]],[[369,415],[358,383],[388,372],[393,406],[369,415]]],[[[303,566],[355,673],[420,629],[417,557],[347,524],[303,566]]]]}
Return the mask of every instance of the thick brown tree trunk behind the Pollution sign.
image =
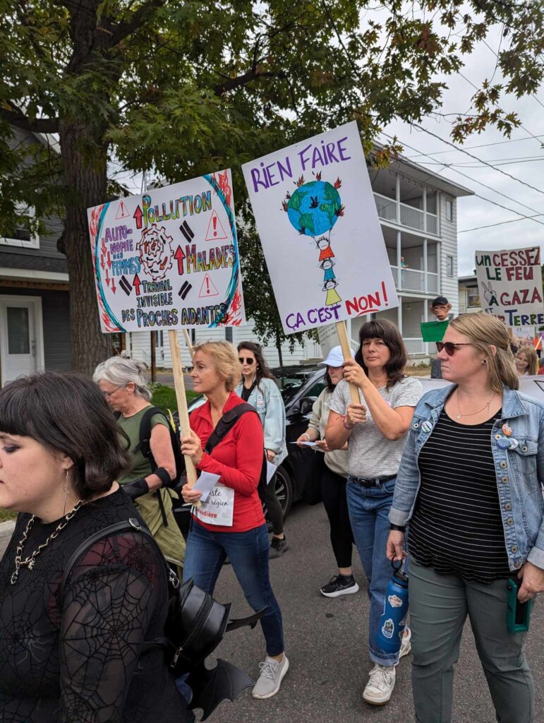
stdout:
{"type": "Polygon", "coordinates": [[[113,354],[113,337],[100,330],[95,277],[92,270],[87,208],[106,200],[107,148],[94,140],[92,161],[81,148],[100,137],[77,121],[61,121],[60,142],[64,181],[69,189],[64,221],[64,253],[70,274],[70,329],[72,369],[92,375],[96,364],[113,354]]]}

